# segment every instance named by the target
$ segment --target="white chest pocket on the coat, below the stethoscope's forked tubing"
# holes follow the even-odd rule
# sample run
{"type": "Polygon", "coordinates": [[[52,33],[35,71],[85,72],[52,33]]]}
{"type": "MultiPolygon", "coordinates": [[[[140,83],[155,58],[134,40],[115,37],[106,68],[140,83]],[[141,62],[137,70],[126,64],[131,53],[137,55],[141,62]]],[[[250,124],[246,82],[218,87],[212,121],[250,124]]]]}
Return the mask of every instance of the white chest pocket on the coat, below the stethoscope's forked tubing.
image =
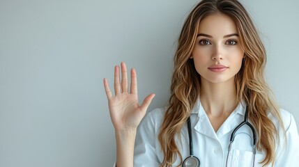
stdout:
{"type": "Polygon", "coordinates": [[[256,154],[254,158],[253,152],[243,150],[232,150],[227,159],[228,166],[232,167],[252,167],[261,166],[259,162],[263,159],[263,154],[256,154]]]}

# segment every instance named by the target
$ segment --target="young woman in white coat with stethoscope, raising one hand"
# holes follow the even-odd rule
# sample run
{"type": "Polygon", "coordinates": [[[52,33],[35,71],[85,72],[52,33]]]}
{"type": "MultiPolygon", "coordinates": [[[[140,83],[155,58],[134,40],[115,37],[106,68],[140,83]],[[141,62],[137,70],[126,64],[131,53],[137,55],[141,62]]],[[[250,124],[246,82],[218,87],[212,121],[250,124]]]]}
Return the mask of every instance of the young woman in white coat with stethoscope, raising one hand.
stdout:
{"type": "Polygon", "coordinates": [[[135,70],[129,92],[125,63],[121,77],[115,67],[114,97],[104,79],[117,166],[298,166],[296,122],[273,100],[265,63],[238,1],[200,1],[178,38],[169,106],[139,125],[154,95],[139,106],[135,70]]]}

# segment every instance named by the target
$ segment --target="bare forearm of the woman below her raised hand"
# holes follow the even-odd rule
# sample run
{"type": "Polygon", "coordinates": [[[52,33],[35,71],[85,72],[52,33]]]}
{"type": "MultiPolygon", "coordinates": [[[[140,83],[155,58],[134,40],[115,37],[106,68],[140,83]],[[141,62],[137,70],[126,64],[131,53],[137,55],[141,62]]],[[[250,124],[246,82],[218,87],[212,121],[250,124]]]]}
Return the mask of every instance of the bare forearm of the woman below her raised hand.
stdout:
{"type": "Polygon", "coordinates": [[[115,132],[116,166],[133,167],[136,130],[115,132]]]}

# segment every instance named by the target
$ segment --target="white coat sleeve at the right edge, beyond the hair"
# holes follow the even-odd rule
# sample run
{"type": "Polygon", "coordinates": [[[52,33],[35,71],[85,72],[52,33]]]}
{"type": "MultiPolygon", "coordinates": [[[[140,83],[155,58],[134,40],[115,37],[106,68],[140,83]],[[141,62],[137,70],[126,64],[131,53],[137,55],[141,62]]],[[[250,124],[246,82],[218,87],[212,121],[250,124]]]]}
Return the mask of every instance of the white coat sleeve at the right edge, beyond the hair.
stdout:
{"type": "MultiPolygon", "coordinates": [[[[277,159],[275,166],[298,166],[299,164],[299,136],[295,119],[288,114],[286,123],[286,145],[282,148],[282,154],[277,159]]],[[[284,145],[284,144],[282,144],[284,145]]]]}

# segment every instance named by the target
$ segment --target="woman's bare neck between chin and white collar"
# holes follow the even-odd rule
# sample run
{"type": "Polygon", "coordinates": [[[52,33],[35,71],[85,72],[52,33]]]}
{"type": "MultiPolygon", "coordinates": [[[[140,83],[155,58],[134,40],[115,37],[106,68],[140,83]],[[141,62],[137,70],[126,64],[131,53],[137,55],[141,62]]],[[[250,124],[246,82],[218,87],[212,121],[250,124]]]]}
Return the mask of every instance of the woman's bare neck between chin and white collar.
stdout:
{"type": "Polygon", "coordinates": [[[217,84],[201,79],[200,100],[208,116],[229,115],[238,104],[233,79],[217,84]]]}

